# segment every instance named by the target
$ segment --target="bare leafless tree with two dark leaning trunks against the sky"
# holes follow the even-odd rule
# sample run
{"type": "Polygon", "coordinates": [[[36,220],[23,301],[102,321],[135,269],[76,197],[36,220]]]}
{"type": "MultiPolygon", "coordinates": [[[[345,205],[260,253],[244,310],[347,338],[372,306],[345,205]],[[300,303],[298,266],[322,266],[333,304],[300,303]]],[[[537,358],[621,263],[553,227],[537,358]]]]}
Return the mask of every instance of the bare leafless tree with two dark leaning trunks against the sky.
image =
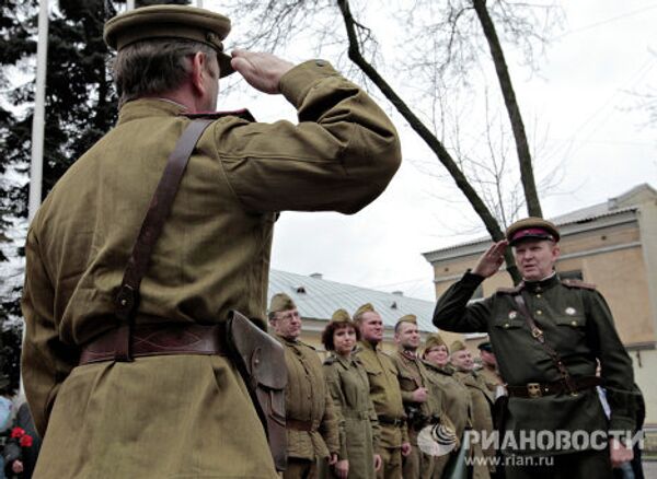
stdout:
{"type": "MultiPolygon", "coordinates": [[[[447,170],[495,241],[504,238],[504,227],[515,220],[521,206],[531,215],[542,215],[532,155],[503,42],[514,51],[521,50],[526,65],[534,65],[537,48],[542,49],[546,43],[544,32],[558,24],[561,10],[548,3],[505,0],[417,0],[399,4],[244,0],[221,2],[220,8],[240,20],[240,30],[247,31],[246,47],[274,51],[293,45],[292,40],[309,39],[338,58],[346,54],[447,170]],[[385,30],[377,31],[372,25],[380,25],[382,19],[396,19],[399,28],[389,28],[389,22],[385,30]],[[377,40],[377,34],[385,37],[384,45],[377,40]],[[498,87],[486,89],[486,126],[466,145],[462,141],[466,130],[474,130],[469,122],[474,115],[468,110],[468,101],[479,93],[475,87],[481,84],[474,77],[485,79],[486,74],[494,75],[498,87]],[[499,128],[502,117],[492,113],[491,105],[496,103],[492,97],[504,105],[506,127],[499,128]],[[465,103],[456,102],[463,98],[465,103]],[[507,137],[508,129],[511,135],[507,137]],[[507,157],[509,142],[515,145],[516,168],[510,167],[507,157]],[[509,175],[517,178],[521,196],[515,195],[517,188],[507,187],[512,182],[509,175]],[[510,198],[507,191],[515,196],[510,198]]],[[[506,260],[514,281],[519,281],[510,252],[506,260]]]]}

